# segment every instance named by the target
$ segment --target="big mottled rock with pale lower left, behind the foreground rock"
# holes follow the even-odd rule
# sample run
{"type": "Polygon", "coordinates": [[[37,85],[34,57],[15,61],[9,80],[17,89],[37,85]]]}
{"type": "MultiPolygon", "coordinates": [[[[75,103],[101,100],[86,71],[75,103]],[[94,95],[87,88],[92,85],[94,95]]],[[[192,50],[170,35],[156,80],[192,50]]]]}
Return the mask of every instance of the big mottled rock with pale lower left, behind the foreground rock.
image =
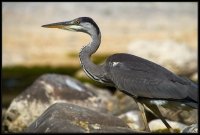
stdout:
{"type": "Polygon", "coordinates": [[[57,102],[70,102],[107,112],[107,101],[102,100],[97,94],[69,76],[42,75],[12,101],[5,112],[3,127],[9,132],[22,131],[50,105],[57,102]]]}

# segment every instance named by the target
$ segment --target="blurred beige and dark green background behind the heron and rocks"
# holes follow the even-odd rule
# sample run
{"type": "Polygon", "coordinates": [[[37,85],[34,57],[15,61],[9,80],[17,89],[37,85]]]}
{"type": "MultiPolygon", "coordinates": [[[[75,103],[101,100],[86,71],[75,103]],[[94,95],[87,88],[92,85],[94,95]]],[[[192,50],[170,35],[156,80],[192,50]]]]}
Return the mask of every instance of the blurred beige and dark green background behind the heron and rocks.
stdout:
{"type": "Polygon", "coordinates": [[[93,18],[101,30],[95,63],[131,53],[197,81],[197,2],[3,2],[3,107],[44,73],[100,86],[80,68],[78,53],[90,37],[41,27],[80,16],[93,18]]]}

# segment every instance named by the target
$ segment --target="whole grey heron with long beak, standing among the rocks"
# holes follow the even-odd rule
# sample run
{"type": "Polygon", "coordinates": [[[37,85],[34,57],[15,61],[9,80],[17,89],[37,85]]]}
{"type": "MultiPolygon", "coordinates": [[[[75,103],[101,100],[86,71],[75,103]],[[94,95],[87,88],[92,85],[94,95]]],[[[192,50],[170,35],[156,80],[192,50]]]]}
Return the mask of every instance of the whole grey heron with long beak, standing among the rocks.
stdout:
{"type": "Polygon", "coordinates": [[[149,60],[131,54],[118,53],[108,57],[100,65],[94,64],[90,57],[100,46],[101,32],[92,18],[79,17],[71,21],[46,24],[42,27],[89,34],[92,41],[79,53],[83,70],[91,79],[114,86],[133,97],[142,111],[147,130],[149,127],[144,113],[145,108],[156,114],[167,128],[171,128],[161,115],[156,100],[164,101],[163,104],[176,101],[197,108],[197,85],[149,60]]]}

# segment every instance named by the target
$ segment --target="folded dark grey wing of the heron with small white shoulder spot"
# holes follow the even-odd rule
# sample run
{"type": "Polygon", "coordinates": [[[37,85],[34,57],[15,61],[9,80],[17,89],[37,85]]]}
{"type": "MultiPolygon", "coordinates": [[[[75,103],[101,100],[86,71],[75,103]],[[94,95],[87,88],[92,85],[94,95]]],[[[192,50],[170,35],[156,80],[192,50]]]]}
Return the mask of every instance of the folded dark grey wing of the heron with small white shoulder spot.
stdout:
{"type": "Polygon", "coordinates": [[[190,96],[187,82],[140,57],[116,54],[109,57],[106,63],[108,78],[127,94],[157,99],[184,99],[190,96]]]}

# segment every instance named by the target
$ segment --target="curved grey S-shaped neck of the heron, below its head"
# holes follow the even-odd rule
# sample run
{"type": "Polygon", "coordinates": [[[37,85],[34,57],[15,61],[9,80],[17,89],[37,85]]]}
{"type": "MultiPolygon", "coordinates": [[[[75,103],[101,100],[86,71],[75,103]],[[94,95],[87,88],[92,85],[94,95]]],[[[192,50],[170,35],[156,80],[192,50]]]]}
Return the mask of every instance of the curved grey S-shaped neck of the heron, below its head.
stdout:
{"type": "Polygon", "coordinates": [[[83,67],[83,70],[86,72],[86,74],[94,79],[99,80],[99,76],[103,73],[101,66],[94,64],[90,60],[90,56],[94,54],[97,49],[99,48],[99,45],[101,43],[101,34],[90,34],[92,38],[92,42],[90,42],[87,46],[83,47],[81,52],[79,53],[81,66],[83,67]]]}

